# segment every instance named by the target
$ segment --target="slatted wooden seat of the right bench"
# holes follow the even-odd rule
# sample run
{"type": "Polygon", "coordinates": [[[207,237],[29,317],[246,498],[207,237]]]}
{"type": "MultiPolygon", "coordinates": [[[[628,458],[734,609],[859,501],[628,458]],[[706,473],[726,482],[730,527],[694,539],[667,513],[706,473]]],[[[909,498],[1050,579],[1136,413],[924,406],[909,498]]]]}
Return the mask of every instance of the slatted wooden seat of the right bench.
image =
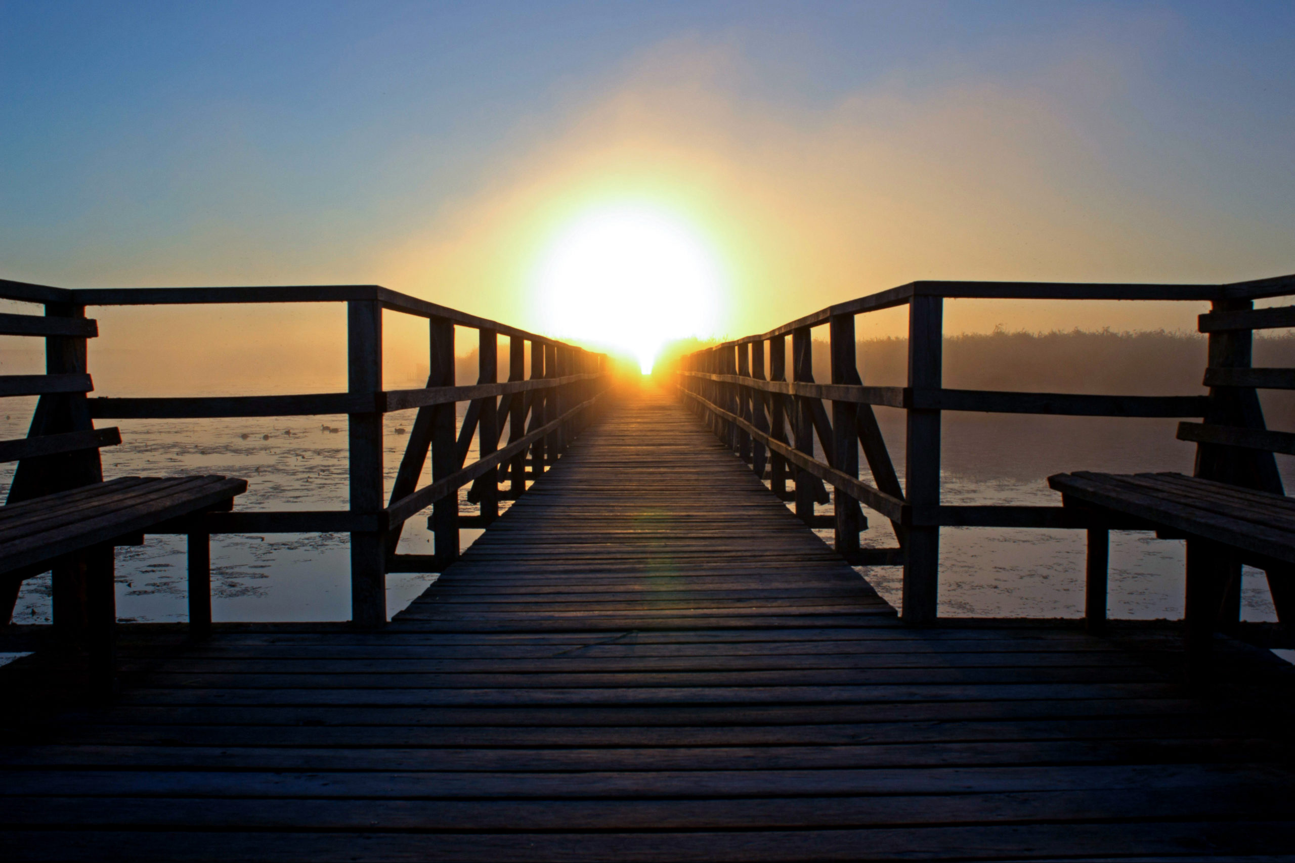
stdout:
{"type": "Polygon", "coordinates": [[[1263,511],[1265,506],[1282,505],[1283,507],[1287,498],[1279,494],[1238,489],[1254,499],[1254,507],[1244,508],[1222,498],[1220,492],[1213,488],[1219,484],[1181,475],[1120,475],[1079,471],[1049,476],[1048,484],[1066,496],[1067,502],[1079,501],[1097,505],[1265,558],[1295,563],[1295,529],[1281,529],[1248,516],[1235,518],[1221,511],[1229,508],[1230,512],[1252,514],[1263,511]],[[1173,490],[1162,490],[1133,481],[1142,479],[1146,483],[1147,480],[1143,477],[1155,476],[1176,476],[1173,483],[1178,485],[1173,490]],[[1195,493],[1190,490],[1191,485],[1182,485],[1184,481],[1195,484],[1195,493]]]}

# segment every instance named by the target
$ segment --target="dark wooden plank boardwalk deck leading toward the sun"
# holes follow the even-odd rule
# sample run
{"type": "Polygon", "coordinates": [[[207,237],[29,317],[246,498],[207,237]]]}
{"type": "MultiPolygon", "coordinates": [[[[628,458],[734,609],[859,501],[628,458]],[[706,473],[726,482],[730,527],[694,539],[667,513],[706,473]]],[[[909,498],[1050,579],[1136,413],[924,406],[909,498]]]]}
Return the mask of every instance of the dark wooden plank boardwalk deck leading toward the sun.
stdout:
{"type": "Polygon", "coordinates": [[[1145,660],[1045,624],[903,626],[648,391],[386,630],[218,626],[111,708],[12,728],[0,849],[1295,859],[1286,740],[1145,660]]]}

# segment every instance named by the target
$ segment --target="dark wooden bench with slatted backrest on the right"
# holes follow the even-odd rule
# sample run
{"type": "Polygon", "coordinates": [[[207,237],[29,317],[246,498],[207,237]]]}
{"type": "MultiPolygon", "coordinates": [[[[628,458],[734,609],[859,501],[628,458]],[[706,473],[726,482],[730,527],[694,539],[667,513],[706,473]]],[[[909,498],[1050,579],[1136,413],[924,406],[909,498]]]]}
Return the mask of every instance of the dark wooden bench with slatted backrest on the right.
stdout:
{"type": "Polygon", "coordinates": [[[1295,499],[1285,496],[1273,453],[1295,454],[1295,435],[1270,431],[1256,389],[1295,389],[1295,369],[1251,366],[1252,331],[1295,326],[1295,307],[1252,308],[1215,300],[1199,318],[1210,336],[1203,423],[1178,423],[1197,444],[1194,476],[1072,472],[1048,477],[1066,507],[1084,508],[1088,532],[1085,617],[1106,620],[1109,529],[1154,529],[1186,540],[1184,620],[1190,668],[1199,670],[1219,629],[1241,615],[1241,567],[1263,569],[1279,624],[1295,628],[1295,499]]]}

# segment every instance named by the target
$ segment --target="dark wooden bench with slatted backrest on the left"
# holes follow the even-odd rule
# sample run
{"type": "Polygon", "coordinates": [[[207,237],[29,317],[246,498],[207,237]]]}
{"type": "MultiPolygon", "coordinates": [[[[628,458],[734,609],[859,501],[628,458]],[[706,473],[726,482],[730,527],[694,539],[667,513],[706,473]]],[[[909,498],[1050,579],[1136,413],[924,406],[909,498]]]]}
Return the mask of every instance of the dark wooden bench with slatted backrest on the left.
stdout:
{"type": "MultiPolygon", "coordinates": [[[[27,298],[16,298],[27,299],[27,298]]],[[[18,462],[0,507],[0,624],[13,616],[22,581],[53,571],[60,640],[89,657],[91,686],[115,688],[114,551],[149,532],[189,538],[189,628],[211,628],[210,536],[201,514],[229,510],[246,480],[224,476],[104,481],[100,448],[122,441],[95,428],[85,393],[87,339],[98,335],[84,307],[45,304],[45,317],[0,314],[0,335],[43,336],[45,374],[0,375],[0,397],[39,396],[27,437],[0,441],[0,462],[18,462]]]]}

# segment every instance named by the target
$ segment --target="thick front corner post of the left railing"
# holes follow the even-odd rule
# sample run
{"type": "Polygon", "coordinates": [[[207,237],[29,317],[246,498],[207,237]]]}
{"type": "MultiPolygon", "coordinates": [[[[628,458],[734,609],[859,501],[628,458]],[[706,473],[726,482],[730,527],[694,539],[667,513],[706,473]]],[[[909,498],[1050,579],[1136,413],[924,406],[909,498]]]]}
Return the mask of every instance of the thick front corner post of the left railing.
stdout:
{"type": "MultiPolygon", "coordinates": [[[[382,304],[350,300],[347,311],[348,389],[377,406],[382,391],[382,304]]],[[[382,512],[382,414],[351,414],[351,512],[376,519],[382,512]]],[[[381,626],[387,621],[386,536],[381,530],[351,533],[351,621],[381,626]]]]}

